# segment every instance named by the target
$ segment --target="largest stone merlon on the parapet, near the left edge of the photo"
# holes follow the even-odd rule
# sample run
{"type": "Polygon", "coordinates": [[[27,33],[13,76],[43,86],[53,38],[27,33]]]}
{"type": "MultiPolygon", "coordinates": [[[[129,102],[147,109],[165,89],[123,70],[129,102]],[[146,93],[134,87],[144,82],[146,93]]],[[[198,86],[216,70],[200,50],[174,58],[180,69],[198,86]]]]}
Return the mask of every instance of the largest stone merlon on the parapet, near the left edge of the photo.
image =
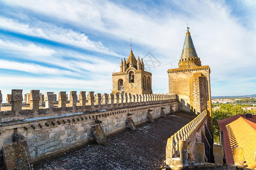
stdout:
{"type": "Polygon", "coordinates": [[[11,90],[11,111],[17,113],[22,110],[22,90],[11,90]]]}

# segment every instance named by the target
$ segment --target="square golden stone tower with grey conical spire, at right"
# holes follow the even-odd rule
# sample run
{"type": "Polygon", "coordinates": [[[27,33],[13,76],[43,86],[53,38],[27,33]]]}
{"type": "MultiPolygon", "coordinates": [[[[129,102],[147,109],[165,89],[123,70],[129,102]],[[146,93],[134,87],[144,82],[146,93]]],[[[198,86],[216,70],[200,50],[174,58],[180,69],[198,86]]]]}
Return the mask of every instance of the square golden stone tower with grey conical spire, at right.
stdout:
{"type": "Polygon", "coordinates": [[[185,36],[178,69],[168,71],[169,93],[179,97],[179,110],[199,114],[208,111],[211,123],[210,67],[201,66],[189,32],[185,36]]]}

